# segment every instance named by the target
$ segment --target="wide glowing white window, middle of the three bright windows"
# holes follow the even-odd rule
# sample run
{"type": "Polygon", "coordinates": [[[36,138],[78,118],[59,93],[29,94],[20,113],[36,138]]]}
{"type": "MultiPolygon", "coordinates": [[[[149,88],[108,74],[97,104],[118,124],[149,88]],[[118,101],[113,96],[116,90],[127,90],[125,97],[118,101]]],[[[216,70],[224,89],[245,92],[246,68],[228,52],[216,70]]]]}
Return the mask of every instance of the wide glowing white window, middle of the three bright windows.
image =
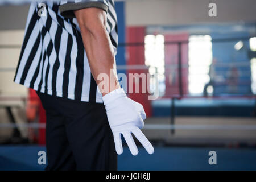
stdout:
{"type": "Polygon", "coordinates": [[[203,93],[210,81],[212,64],[212,38],[209,35],[192,35],[188,43],[188,90],[192,95],[203,93]]]}

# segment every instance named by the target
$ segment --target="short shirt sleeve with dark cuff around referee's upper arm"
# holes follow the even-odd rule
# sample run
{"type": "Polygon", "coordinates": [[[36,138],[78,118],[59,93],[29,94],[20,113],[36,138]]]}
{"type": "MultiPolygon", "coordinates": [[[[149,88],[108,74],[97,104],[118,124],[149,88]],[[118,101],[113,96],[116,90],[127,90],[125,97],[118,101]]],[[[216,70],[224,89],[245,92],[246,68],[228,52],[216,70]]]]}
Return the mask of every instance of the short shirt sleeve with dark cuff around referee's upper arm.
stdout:
{"type": "Polygon", "coordinates": [[[88,7],[97,7],[104,11],[108,11],[108,0],[73,0],[61,1],[59,10],[60,15],[65,18],[76,18],[73,13],[74,10],[85,9],[88,7]]]}

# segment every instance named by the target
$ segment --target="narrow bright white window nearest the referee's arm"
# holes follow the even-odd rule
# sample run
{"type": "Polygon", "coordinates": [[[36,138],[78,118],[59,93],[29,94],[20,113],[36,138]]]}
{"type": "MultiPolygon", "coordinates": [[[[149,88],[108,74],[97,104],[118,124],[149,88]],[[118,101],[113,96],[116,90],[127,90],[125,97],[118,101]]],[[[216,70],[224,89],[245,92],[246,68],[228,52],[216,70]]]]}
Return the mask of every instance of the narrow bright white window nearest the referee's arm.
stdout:
{"type": "MultiPolygon", "coordinates": [[[[158,73],[159,95],[163,96],[165,91],[164,83],[164,36],[146,35],[145,36],[145,65],[149,67],[148,72],[154,77],[158,73]]],[[[153,78],[152,78],[153,79],[153,78]]],[[[155,88],[153,81],[150,81],[150,88],[155,88]]],[[[154,89],[151,89],[151,91],[154,89]]]]}

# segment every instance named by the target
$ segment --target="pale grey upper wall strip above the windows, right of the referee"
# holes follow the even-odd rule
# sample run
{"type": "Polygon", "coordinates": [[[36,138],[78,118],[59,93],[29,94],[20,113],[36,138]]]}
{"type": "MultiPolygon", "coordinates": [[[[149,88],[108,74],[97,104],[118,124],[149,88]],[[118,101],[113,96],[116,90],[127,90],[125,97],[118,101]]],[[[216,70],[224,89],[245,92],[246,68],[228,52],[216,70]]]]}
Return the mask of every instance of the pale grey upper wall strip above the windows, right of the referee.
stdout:
{"type": "Polygon", "coordinates": [[[255,0],[129,0],[126,25],[177,25],[205,22],[256,20],[255,0]],[[217,17],[209,17],[208,5],[217,5],[217,17]]]}

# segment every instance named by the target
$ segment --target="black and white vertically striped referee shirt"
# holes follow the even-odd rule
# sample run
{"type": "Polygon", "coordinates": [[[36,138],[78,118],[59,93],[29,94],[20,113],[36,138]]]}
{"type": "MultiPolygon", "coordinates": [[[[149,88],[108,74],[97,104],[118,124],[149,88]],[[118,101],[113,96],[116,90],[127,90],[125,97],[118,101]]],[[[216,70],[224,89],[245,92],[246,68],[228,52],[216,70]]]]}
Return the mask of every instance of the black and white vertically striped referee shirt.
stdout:
{"type": "Polygon", "coordinates": [[[73,10],[98,7],[107,12],[106,30],[117,53],[114,0],[32,2],[14,81],[57,97],[102,102],[90,72],[79,24],[73,10]],[[41,16],[39,16],[39,11],[41,16]]]}

